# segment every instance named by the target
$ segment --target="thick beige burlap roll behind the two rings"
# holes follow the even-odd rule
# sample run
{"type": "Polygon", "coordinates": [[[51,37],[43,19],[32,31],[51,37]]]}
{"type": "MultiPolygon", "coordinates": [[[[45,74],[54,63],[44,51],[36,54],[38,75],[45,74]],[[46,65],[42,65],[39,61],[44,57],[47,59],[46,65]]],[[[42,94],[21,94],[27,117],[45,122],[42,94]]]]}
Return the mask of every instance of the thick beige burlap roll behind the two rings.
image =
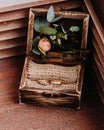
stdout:
{"type": "Polygon", "coordinates": [[[30,61],[28,64],[28,77],[33,80],[58,79],[68,83],[76,83],[79,79],[80,69],[80,65],[65,67],[53,64],[37,64],[30,61]]]}

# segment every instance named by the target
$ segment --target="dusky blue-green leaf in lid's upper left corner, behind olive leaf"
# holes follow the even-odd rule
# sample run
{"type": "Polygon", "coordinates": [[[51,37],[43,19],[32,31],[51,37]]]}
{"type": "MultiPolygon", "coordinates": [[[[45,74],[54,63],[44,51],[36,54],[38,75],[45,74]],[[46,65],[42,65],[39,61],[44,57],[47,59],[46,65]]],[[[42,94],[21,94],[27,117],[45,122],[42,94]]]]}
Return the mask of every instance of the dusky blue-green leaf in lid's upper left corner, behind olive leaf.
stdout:
{"type": "Polygon", "coordinates": [[[49,26],[49,22],[43,16],[37,17],[34,23],[35,31],[39,32],[39,28],[43,26],[49,26]]]}

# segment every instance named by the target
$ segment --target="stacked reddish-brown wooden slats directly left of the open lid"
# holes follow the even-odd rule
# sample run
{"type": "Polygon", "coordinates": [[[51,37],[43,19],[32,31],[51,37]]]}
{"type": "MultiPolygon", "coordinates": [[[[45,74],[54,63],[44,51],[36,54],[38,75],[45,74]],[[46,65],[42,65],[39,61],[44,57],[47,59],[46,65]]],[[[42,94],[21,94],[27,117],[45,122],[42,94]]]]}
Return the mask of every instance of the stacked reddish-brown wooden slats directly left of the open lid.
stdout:
{"type": "Polygon", "coordinates": [[[25,53],[28,9],[0,14],[0,59],[25,53]]]}

